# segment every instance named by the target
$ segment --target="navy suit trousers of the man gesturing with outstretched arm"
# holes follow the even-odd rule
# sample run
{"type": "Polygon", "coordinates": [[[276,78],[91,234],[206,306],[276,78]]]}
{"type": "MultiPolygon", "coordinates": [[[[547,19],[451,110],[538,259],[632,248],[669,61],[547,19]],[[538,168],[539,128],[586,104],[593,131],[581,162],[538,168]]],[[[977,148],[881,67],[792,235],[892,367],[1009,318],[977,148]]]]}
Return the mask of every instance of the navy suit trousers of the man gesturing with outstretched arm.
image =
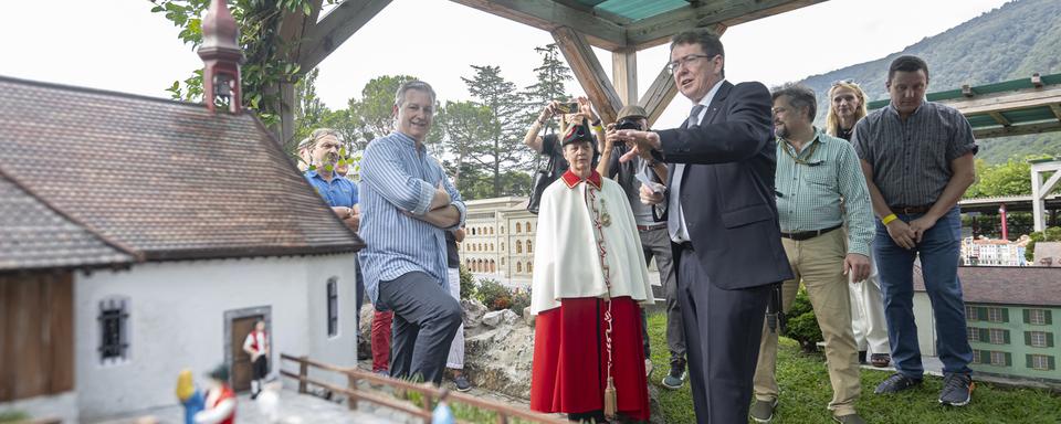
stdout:
{"type": "Polygon", "coordinates": [[[692,250],[679,255],[677,298],[696,422],[747,423],[769,286],[718,288],[692,250]]]}

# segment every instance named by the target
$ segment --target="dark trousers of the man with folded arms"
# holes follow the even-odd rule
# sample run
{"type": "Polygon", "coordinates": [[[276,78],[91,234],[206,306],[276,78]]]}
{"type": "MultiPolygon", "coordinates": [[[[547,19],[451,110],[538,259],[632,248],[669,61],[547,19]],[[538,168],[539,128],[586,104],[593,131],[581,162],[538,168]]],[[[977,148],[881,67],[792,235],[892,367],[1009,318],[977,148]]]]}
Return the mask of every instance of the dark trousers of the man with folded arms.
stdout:
{"type": "Polygon", "coordinates": [[[395,312],[391,377],[442,383],[450,343],[461,326],[461,304],[443,283],[420,272],[379,282],[379,304],[395,312]]]}

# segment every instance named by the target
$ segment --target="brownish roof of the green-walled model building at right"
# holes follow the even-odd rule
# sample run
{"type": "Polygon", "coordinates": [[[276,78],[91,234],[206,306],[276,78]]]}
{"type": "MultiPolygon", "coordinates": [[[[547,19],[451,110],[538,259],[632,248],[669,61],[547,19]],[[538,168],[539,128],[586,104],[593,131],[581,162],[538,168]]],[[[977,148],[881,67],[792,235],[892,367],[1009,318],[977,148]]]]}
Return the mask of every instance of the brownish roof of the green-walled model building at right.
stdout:
{"type": "MultiPolygon", "coordinates": [[[[1061,306],[1061,267],[959,266],[958,278],[967,303],[1061,306]]],[[[925,290],[916,266],[914,289],[925,290]]]]}

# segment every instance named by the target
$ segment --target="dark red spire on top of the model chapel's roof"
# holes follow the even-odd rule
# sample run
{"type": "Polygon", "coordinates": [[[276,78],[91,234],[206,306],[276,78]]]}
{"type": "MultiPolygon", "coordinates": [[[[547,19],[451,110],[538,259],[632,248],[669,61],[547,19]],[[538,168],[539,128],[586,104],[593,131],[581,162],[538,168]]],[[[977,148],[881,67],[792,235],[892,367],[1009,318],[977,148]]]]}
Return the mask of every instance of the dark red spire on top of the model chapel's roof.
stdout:
{"type": "Polygon", "coordinates": [[[239,45],[240,29],[229,12],[228,1],[211,0],[210,9],[202,20],[203,99],[211,112],[227,107],[230,113],[239,114],[243,108],[240,86],[240,63],[243,51],[239,45]]]}

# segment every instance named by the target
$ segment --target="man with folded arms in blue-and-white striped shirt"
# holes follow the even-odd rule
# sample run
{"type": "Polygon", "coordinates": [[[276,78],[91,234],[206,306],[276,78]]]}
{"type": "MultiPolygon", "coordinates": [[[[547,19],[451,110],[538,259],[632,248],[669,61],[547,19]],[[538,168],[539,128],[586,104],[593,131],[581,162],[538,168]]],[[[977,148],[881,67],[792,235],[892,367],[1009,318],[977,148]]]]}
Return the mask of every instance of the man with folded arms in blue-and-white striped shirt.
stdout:
{"type": "Polygon", "coordinates": [[[423,146],[434,110],[430,85],[402,84],[397,130],[365,149],[360,259],[372,304],[395,312],[390,375],[439,385],[461,325],[461,306],[448,289],[443,231],[459,229],[465,209],[423,146]]]}

